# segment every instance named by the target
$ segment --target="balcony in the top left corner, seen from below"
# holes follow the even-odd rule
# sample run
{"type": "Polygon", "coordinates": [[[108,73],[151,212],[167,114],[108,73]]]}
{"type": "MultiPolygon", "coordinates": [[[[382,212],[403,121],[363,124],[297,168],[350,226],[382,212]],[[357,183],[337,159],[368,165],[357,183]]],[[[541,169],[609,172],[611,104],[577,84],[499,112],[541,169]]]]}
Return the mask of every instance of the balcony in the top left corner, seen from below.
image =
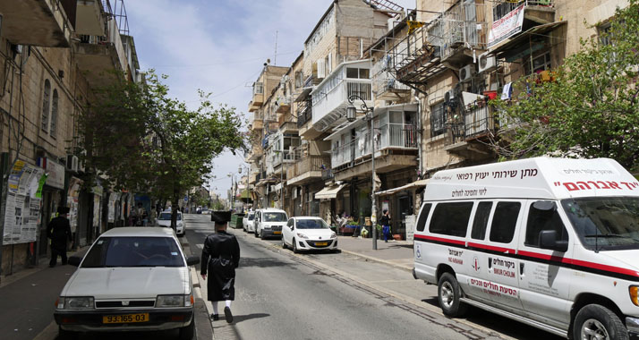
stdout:
{"type": "Polygon", "coordinates": [[[74,3],[60,0],[0,1],[2,34],[15,45],[70,47],[74,3]],[[72,4],[72,5],[70,5],[72,4]]]}

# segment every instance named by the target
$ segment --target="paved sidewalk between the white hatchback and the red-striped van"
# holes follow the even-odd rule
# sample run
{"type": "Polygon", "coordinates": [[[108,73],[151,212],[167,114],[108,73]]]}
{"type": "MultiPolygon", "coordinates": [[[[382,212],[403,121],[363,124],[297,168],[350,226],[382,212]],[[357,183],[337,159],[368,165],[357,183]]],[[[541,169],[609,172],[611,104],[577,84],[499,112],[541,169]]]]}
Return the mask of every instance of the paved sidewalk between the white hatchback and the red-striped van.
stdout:
{"type": "Polygon", "coordinates": [[[345,253],[361,256],[365,259],[385,263],[389,266],[413,270],[413,242],[377,241],[377,251],[372,249],[372,238],[337,236],[337,248],[345,253]]]}

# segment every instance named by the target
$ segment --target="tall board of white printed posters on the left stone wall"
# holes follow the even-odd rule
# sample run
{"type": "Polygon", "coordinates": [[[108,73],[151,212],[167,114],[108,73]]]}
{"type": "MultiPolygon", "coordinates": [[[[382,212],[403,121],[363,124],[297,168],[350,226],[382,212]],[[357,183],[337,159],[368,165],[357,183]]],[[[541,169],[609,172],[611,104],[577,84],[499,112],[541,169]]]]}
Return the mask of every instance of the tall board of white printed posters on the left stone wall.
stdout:
{"type": "Polygon", "coordinates": [[[4,210],[4,244],[36,242],[40,219],[38,192],[42,190],[44,170],[17,161],[9,174],[4,210]]]}

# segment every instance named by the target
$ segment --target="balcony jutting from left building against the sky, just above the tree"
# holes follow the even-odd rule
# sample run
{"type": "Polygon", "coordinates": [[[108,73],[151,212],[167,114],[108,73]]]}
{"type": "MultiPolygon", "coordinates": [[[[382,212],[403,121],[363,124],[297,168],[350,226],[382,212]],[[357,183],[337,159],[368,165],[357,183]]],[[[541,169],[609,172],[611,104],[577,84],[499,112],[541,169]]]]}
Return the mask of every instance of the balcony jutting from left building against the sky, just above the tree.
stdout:
{"type": "Polygon", "coordinates": [[[74,43],[78,67],[86,75],[89,86],[101,87],[128,70],[121,32],[115,18],[106,22],[103,35],[81,35],[74,43]]]}

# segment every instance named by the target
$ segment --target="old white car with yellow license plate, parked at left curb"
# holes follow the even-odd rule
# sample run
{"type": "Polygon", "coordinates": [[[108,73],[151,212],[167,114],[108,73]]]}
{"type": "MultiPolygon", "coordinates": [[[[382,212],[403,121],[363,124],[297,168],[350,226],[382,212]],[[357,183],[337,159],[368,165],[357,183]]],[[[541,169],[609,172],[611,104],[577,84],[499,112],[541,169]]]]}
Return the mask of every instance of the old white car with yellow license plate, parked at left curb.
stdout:
{"type": "Polygon", "coordinates": [[[180,329],[192,339],[193,291],[189,267],[172,230],[122,227],[101,234],[55,302],[58,338],[81,331],[180,329]]]}

